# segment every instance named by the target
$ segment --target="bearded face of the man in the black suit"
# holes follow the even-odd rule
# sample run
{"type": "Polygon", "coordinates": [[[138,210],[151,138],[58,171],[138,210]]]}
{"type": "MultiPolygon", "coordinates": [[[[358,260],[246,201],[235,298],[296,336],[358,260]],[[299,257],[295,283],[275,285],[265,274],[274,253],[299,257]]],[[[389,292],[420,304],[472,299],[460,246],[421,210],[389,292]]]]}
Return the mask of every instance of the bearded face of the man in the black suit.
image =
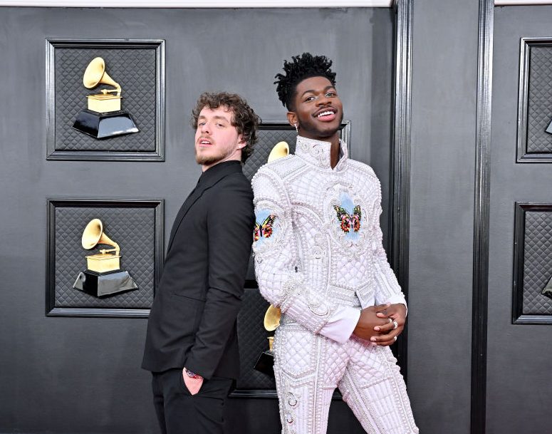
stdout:
{"type": "Polygon", "coordinates": [[[241,160],[244,143],[232,125],[232,111],[225,106],[204,107],[197,118],[195,132],[195,159],[203,170],[219,162],[241,160]]]}

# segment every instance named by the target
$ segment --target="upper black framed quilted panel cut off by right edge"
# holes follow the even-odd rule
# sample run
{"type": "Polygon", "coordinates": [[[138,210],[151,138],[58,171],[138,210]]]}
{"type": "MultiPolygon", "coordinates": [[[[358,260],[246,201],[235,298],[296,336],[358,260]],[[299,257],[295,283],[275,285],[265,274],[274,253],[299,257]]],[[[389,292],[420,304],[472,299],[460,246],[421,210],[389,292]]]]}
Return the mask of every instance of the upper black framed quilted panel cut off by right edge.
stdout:
{"type": "Polygon", "coordinates": [[[552,36],[521,38],[519,56],[517,162],[552,162],[552,36]]]}

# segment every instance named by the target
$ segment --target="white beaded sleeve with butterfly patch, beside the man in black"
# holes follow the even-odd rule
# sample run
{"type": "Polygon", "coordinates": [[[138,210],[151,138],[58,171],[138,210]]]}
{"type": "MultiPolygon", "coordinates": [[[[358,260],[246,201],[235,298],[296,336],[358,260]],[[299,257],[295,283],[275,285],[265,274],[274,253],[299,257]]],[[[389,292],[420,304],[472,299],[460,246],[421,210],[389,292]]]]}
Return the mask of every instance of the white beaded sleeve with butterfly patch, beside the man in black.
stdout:
{"type": "Polygon", "coordinates": [[[298,257],[293,207],[281,178],[264,167],[252,185],[256,215],[253,251],[261,294],[313,333],[340,343],[347,341],[360,309],[338,306],[323,288],[306,280],[298,257]]]}

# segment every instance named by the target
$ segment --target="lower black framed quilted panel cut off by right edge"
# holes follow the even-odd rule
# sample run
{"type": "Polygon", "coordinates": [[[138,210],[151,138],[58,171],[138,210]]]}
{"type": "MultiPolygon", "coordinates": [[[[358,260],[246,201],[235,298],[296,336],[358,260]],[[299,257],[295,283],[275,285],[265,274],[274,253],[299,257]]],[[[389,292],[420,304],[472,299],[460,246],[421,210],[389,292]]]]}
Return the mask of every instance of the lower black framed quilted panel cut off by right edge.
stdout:
{"type": "Polygon", "coordinates": [[[552,203],[516,203],[513,324],[552,324],[552,203]]]}

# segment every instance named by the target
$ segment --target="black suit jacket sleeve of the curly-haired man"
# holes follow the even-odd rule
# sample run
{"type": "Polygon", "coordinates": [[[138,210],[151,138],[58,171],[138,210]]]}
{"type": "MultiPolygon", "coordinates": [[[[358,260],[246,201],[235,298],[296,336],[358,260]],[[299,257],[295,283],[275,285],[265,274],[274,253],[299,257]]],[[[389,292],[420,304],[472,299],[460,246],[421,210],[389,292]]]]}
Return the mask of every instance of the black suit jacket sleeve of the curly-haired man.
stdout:
{"type": "Polygon", "coordinates": [[[207,212],[209,289],[202,320],[185,366],[211,378],[236,325],[251,254],[253,195],[246,182],[234,182],[211,198],[207,212]]]}

